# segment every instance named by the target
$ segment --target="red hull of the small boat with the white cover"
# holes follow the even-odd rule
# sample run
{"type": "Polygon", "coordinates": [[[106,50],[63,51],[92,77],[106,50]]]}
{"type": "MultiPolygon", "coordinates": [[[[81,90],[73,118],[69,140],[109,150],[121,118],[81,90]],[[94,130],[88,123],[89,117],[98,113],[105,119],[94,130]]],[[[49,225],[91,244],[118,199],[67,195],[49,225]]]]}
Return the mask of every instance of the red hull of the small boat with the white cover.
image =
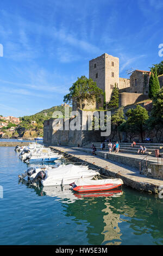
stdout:
{"type": "Polygon", "coordinates": [[[122,186],[122,184],[86,185],[86,186],[73,187],[73,190],[78,193],[82,193],[82,192],[113,190],[114,188],[120,187],[120,186],[122,186]]]}

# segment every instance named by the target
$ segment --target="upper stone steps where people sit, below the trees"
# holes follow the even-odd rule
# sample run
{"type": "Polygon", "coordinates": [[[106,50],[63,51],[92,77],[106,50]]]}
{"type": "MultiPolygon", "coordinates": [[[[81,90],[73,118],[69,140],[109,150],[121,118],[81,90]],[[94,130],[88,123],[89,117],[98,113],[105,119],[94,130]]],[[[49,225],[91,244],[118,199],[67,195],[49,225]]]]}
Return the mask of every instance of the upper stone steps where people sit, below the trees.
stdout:
{"type": "MultiPolygon", "coordinates": [[[[100,142],[90,142],[90,143],[84,145],[83,148],[91,148],[92,144],[95,145],[97,150],[101,150],[100,142]]],[[[114,142],[112,142],[112,144],[114,144],[114,142]]],[[[163,143],[162,144],[159,144],[159,143],[136,143],[136,145],[133,148],[131,147],[131,143],[120,143],[120,152],[126,153],[126,154],[137,155],[137,151],[138,151],[140,145],[142,145],[142,146],[145,145],[145,147],[147,149],[147,151],[145,152],[144,155],[155,156],[156,149],[159,149],[160,153],[163,153],[163,143]]],[[[105,149],[103,151],[109,151],[108,142],[105,142],[105,149]]]]}

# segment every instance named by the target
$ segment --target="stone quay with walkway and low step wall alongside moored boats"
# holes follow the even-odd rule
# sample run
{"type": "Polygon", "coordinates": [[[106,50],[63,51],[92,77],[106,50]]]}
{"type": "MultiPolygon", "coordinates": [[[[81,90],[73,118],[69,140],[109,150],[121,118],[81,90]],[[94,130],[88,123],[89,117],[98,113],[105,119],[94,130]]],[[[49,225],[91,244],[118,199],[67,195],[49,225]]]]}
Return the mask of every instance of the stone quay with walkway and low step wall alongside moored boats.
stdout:
{"type": "MultiPolygon", "coordinates": [[[[99,169],[99,172],[105,176],[112,178],[121,178],[123,180],[124,185],[132,187],[138,191],[146,191],[149,193],[158,194],[160,192],[159,188],[161,186],[163,188],[163,179],[156,179],[152,178],[151,176],[148,177],[147,175],[142,174],[142,172],[140,172],[139,169],[139,164],[137,167],[136,165],[134,166],[134,164],[130,164],[133,160],[129,159],[129,157],[126,154],[123,156],[126,157],[126,160],[124,160],[126,162],[124,164],[123,162],[118,162],[117,160],[115,161],[115,159],[109,159],[108,152],[96,151],[97,155],[93,156],[91,155],[91,149],[86,148],[62,146],[51,147],[51,149],[64,153],[64,156],[68,157],[68,159],[72,161],[86,162],[87,164],[89,164],[90,168],[94,167],[99,169]]],[[[122,159],[122,153],[118,154],[121,154],[120,159],[122,159]]],[[[133,155],[130,157],[133,157],[133,155]]],[[[140,159],[138,159],[138,161],[140,161],[140,159]]],[[[137,163],[139,162],[135,161],[135,164],[137,163]]]]}

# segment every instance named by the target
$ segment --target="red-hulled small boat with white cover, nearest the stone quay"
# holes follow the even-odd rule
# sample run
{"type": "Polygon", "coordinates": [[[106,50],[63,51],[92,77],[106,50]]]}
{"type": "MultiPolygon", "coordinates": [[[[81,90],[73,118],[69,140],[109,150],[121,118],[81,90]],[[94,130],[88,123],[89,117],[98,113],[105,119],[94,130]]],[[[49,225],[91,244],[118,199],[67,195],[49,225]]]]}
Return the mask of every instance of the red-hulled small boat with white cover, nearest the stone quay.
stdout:
{"type": "Polygon", "coordinates": [[[88,180],[80,178],[70,185],[72,185],[74,191],[80,193],[113,190],[114,188],[122,186],[122,184],[123,181],[121,179],[88,180]]]}

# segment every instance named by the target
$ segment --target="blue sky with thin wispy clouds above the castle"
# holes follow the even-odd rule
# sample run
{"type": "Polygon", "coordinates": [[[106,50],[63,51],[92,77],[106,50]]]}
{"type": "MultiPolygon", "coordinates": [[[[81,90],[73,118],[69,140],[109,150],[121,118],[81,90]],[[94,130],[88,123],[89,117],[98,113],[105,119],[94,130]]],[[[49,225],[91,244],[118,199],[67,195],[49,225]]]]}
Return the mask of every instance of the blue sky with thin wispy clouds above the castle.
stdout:
{"type": "Polygon", "coordinates": [[[0,114],[21,117],[62,103],[103,53],[149,70],[163,43],[162,0],[1,0],[0,114]]]}

